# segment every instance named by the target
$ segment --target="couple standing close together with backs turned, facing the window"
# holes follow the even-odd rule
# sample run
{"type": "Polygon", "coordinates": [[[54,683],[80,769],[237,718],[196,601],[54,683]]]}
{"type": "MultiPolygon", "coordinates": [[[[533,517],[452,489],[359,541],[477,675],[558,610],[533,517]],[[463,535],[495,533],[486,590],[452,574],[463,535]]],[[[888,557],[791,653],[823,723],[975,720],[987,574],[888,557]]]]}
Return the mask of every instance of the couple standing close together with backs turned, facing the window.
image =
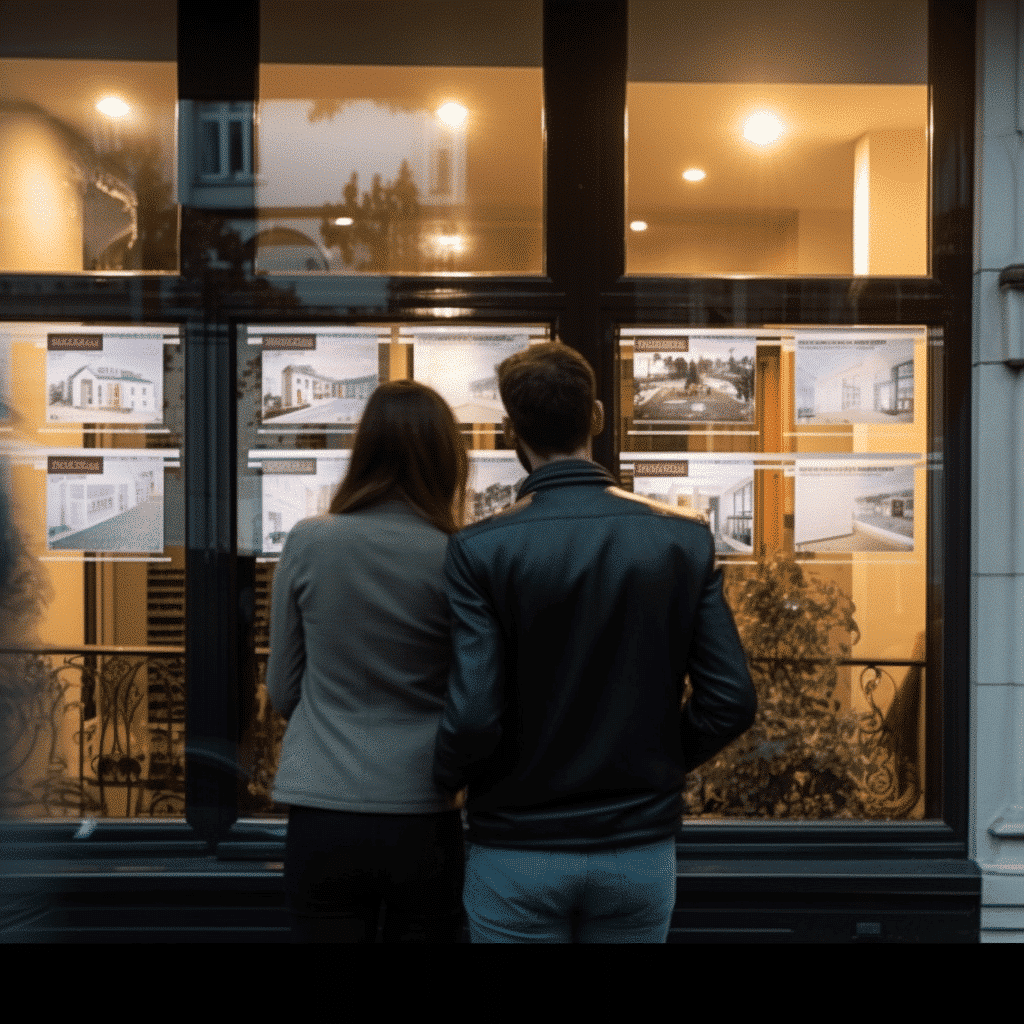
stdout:
{"type": "Polygon", "coordinates": [[[711,530],[591,460],[590,366],[549,343],[498,380],[529,472],[511,508],[460,529],[452,411],[392,382],[285,544],[267,686],[295,941],[372,942],[383,901],[385,941],[457,941],[465,907],[473,942],[664,942],[686,773],[753,722],[711,530]]]}

